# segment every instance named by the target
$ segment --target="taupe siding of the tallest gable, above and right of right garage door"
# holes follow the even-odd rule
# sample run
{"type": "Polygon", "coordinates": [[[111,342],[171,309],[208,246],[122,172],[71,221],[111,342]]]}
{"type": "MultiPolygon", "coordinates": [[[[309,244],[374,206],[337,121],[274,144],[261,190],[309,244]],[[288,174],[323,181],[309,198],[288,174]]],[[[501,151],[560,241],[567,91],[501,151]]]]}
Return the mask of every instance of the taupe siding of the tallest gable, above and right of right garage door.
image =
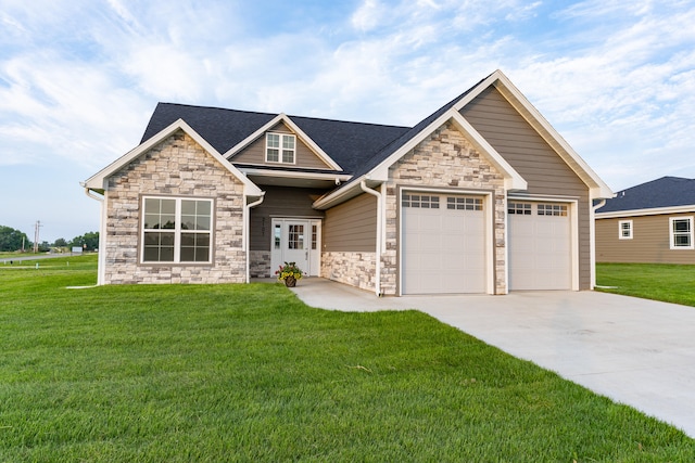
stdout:
{"type": "Polygon", "coordinates": [[[528,182],[532,196],[573,196],[579,217],[579,288],[591,287],[589,188],[535,129],[494,87],[464,106],[460,114],[528,182]]]}

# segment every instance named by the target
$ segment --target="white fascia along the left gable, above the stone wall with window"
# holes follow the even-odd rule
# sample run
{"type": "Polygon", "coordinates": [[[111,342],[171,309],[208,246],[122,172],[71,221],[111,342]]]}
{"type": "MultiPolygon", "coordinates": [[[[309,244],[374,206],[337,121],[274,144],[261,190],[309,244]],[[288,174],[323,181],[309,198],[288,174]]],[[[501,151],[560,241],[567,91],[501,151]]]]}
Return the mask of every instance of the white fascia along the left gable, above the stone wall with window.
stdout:
{"type": "Polygon", "coordinates": [[[218,152],[215,150],[205,139],[203,139],[191,126],[186,124],[184,119],[178,119],[170,124],[168,127],[161,130],[154,137],[147,140],[144,143],[136,146],[134,150],[130,150],[125,155],[121,156],[115,162],[111,163],[105,168],[101,169],[97,175],[90,177],[87,181],[85,181],[85,187],[89,189],[106,189],[106,179],[115,173],[118,169],[127,166],[132,160],[144,154],[147,151],[155,146],[157,143],[161,143],[167,137],[172,136],[177,130],[185,131],[189,137],[191,137],[195,143],[200,144],[207,154],[210,154],[215,160],[222,164],[229,172],[235,176],[239,181],[241,181],[244,185],[244,194],[248,196],[260,196],[262,194],[261,189],[253,183],[251,180],[247,178],[239,169],[231,165],[227,159],[225,159],[218,152]]]}

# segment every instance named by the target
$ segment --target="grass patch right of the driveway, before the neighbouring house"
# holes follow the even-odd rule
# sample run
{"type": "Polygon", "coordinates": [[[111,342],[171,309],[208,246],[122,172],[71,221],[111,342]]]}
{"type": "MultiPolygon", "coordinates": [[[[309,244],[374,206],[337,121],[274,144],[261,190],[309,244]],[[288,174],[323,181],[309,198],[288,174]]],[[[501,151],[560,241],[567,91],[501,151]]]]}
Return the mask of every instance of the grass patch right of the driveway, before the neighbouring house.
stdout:
{"type": "Polygon", "coordinates": [[[695,306],[695,266],[597,263],[596,284],[608,293],[695,306]]]}

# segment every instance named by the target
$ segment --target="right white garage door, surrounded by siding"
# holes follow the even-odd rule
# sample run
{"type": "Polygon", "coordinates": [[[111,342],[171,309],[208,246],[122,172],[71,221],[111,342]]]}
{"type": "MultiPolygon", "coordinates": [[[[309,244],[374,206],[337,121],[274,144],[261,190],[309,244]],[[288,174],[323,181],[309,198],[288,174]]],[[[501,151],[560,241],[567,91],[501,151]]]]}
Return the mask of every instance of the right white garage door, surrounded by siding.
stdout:
{"type": "Polygon", "coordinates": [[[509,290],[571,290],[569,205],[509,202],[509,290]]]}

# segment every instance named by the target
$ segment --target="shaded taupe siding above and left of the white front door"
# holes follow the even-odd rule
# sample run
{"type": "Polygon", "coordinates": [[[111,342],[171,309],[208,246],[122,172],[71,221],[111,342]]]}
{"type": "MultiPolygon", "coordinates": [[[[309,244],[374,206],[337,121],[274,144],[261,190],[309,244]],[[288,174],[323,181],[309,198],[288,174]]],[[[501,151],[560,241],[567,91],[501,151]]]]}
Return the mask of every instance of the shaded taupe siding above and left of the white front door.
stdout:
{"type": "Polygon", "coordinates": [[[323,211],[312,207],[325,193],[323,190],[283,187],[264,187],[264,190],[263,203],[251,209],[251,250],[270,250],[273,217],[324,217],[323,211]]]}

